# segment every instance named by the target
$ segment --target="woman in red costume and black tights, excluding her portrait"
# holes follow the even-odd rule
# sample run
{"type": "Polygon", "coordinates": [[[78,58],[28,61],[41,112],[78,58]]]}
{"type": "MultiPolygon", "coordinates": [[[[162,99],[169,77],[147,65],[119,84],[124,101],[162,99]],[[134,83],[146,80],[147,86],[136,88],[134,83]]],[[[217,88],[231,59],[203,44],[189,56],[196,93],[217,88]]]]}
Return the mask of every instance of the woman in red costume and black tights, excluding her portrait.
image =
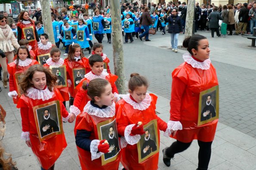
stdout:
{"type": "Polygon", "coordinates": [[[184,63],[172,73],[171,110],[168,128],[177,140],[163,149],[163,162],[168,167],[176,153],[190,146],[194,139],[199,145],[198,168],[207,170],[211,157],[218,119],[197,126],[200,92],[218,85],[216,70],[211,64],[209,42],[206,37],[195,35],[183,41],[189,53],[183,54],[184,63]]]}

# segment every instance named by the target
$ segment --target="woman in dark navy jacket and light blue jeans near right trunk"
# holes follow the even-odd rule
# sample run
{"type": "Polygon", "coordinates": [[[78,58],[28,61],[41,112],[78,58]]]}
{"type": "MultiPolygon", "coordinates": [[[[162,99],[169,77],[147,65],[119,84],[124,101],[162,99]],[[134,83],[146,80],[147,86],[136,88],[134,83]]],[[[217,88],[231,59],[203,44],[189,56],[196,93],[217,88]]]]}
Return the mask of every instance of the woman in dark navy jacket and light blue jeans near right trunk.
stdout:
{"type": "Polygon", "coordinates": [[[172,51],[177,53],[179,33],[182,33],[183,31],[182,21],[178,16],[177,9],[173,9],[172,14],[167,18],[167,21],[169,22],[168,33],[171,34],[172,51]]]}

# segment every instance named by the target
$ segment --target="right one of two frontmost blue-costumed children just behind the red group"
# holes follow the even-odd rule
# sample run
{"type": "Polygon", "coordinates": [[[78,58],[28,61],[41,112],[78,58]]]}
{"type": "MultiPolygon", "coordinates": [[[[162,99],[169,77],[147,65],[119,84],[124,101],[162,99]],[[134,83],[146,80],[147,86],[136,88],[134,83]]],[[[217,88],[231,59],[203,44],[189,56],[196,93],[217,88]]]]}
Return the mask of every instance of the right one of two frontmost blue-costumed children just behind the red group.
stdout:
{"type": "Polygon", "coordinates": [[[77,27],[77,44],[81,46],[81,48],[86,48],[91,54],[91,49],[89,48],[89,30],[88,27],[85,25],[83,19],[78,20],[78,27],[77,27]]]}

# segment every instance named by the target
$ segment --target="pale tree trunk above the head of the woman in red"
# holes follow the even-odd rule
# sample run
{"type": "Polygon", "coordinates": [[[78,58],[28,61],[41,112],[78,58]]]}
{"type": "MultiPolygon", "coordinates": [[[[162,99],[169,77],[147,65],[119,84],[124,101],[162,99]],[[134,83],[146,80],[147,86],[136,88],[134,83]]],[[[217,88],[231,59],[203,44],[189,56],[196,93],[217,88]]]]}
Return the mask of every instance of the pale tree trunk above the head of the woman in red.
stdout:
{"type": "Polygon", "coordinates": [[[194,6],[195,6],[195,0],[188,0],[187,17],[186,17],[186,24],[185,24],[185,38],[192,36],[194,6]]]}

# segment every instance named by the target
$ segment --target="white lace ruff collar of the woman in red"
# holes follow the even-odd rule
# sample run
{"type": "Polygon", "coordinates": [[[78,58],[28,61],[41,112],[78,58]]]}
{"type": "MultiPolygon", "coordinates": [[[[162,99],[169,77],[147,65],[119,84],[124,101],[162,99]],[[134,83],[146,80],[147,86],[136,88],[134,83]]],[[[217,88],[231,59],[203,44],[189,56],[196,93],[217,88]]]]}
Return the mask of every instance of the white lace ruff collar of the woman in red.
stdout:
{"type": "Polygon", "coordinates": [[[210,69],[210,65],[211,65],[210,58],[207,60],[204,60],[204,62],[199,62],[199,61],[194,60],[191,57],[191,54],[185,53],[185,54],[183,54],[183,59],[185,62],[190,64],[193,68],[202,69],[202,70],[210,69]]]}

